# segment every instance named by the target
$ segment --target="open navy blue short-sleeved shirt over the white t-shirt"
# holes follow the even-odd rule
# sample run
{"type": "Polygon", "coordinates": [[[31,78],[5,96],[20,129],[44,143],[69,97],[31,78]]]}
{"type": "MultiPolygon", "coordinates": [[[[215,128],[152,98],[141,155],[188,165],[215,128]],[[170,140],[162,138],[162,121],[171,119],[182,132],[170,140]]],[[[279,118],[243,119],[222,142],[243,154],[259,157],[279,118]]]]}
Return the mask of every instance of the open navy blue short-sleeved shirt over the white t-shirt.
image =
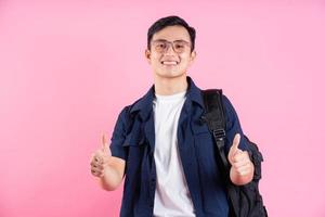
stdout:
{"type": "MultiPolygon", "coordinates": [[[[227,217],[229,205],[216,158],[217,148],[200,118],[204,114],[202,92],[190,77],[187,84],[178,126],[178,145],[194,212],[197,217],[227,217]]],[[[121,217],[153,216],[156,189],[154,98],[153,86],[144,97],[121,111],[113,132],[112,155],[126,161],[121,217]]],[[[225,153],[236,133],[242,136],[239,149],[247,150],[237,114],[229,99],[222,98],[226,119],[225,153]]]]}

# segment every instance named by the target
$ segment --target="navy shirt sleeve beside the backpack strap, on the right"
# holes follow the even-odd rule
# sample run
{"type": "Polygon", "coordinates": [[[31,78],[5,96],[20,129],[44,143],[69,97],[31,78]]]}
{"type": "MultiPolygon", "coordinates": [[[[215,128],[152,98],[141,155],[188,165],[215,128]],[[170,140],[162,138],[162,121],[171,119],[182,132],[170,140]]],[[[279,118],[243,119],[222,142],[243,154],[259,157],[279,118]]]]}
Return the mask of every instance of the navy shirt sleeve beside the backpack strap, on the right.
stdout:
{"type": "Polygon", "coordinates": [[[232,103],[230,102],[230,100],[225,97],[222,95],[222,101],[223,101],[223,106],[224,106],[224,113],[225,113],[225,151],[226,154],[230,151],[230,148],[233,144],[233,140],[235,138],[236,133],[240,135],[240,142],[238,148],[243,151],[247,151],[248,150],[248,145],[247,145],[247,140],[244,137],[244,132],[242,130],[240,127],[240,123],[237,116],[237,113],[234,108],[234,106],[232,105],[232,103]]]}

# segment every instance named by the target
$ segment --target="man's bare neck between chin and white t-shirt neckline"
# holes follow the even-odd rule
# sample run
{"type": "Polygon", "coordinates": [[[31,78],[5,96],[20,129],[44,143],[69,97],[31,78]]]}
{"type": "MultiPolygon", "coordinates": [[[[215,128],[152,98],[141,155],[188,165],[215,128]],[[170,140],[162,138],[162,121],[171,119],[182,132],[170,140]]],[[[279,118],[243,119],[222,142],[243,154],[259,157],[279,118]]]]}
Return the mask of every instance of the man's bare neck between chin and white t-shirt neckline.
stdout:
{"type": "Polygon", "coordinates": [[[170,95],[187,90],[186,74],[174,77],[165,78],[155,76],[155,93],[160,95],[170,95]]]}

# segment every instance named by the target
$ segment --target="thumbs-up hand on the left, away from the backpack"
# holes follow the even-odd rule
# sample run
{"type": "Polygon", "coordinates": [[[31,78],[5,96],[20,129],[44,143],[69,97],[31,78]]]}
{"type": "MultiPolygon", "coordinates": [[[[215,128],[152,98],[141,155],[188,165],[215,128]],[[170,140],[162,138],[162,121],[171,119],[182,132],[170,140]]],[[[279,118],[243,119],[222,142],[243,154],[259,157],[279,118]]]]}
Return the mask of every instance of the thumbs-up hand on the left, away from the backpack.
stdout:
{"type": "Polygon", "coordinates": [[[105,168],[108,166],[112,157],[110,150],[107,144],[105,135],[102,136],[102,146],[98,149],[92,155],[90,161],[91,174],[95,177],[103,177],[105,168]]]}

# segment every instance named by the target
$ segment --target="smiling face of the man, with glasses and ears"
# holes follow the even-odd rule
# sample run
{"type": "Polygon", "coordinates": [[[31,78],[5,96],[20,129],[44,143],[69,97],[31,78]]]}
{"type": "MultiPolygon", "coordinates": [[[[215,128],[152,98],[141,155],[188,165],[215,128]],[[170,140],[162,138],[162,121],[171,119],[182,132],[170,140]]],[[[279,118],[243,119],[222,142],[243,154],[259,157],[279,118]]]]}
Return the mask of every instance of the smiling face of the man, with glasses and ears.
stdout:
{"type": "Polygon", "coordinates": [[[172,78],[186,73],[195,59],[191,52],[191,38],[183,26],[168,26],[154,34],[151,50],[145,56],[156,76],[172,78]]]}

